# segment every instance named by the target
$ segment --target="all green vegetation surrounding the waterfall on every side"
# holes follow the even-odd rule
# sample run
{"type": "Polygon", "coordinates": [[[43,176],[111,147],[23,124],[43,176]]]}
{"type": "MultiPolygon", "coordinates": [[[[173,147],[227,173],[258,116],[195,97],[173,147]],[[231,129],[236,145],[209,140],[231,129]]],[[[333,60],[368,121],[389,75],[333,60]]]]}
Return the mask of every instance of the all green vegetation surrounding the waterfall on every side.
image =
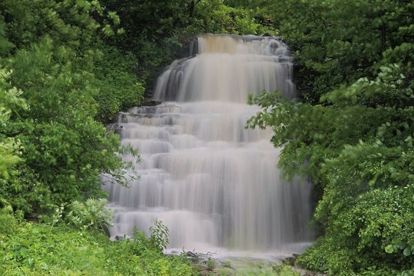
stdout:
{"type": "Polygon", "coordinates": [[[286,176],[319,193],[320,238],[299,263],[414,275],[413,14],[411,0],[0,1],[0,274],[197,273],[162,255],[159,222],[124,242],[100,233],[99,175],[128,181],[128,149],[104,124],[150,95],[184,43],[219,32],[293,49],[299,99],[250,99],[264,110],[249,125],[273,128],[286,176]]]}

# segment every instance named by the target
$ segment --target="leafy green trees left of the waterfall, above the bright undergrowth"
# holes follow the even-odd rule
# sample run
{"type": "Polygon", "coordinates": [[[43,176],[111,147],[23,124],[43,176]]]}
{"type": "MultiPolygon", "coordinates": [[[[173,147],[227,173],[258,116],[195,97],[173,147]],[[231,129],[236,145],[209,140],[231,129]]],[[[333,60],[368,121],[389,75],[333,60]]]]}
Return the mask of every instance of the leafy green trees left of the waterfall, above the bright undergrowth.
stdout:
{"type": "Polygon", "coordinates": [[[8,178],[0,198],[37,216],[103,196],[101,173],[125,184],[119,137],[102,122],[139,105],[144,88],[135,57],[104,42],[120,30],[119,16],[86,0],[6,0],[0,10],[0,63],[7,68],[0,168],[8,178]]]}

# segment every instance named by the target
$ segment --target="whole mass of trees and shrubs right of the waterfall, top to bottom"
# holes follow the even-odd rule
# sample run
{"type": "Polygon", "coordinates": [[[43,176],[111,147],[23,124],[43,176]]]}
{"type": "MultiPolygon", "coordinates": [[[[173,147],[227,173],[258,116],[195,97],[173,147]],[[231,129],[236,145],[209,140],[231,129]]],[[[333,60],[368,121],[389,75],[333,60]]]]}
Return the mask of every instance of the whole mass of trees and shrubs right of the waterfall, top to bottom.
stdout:
{"type": "Polygon", "coordinates": [[[288,177],[320,190],[299,259],[331,275],[413,275],[414,4],[260,1],[293,47],[302,99],[260,95],[288,177]]]}

